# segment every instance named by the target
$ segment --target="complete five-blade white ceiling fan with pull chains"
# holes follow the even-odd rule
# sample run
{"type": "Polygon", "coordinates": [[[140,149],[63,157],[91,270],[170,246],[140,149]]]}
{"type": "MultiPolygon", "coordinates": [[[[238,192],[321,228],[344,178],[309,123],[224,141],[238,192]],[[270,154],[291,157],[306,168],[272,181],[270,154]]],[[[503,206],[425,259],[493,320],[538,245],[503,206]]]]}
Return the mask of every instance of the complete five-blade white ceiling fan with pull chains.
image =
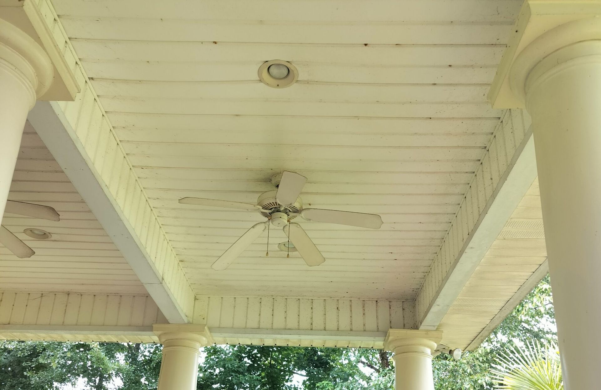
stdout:
{"type": "Polygon", "coordinates": [[[231,202],[229,200],[203,199],[197,197],[184,197],[179,200],[184,205],[215,206],[244,211],[258,211],[267,218],[248,229],[235,243],[233,243],[212,265],[214,270],[225,270],[246,248],[248,248],[269,226],[283,228],[288,240],[294,245],[299,255],[309,267],[322,264],[325,259],[311,238],[301,225],[291,222],[300,216],[308,221],[337,223],[361,228],[379,229],[382,226],[382,217],[377,214],[363,212],[350,212],[340,210],[326,210],[303,208],[299,197],[302,188],[307,182],[305,176],[296,172],[284,171],[272,177],[272,184],[278,189],[267,191],[257,199],[257,204],[231,202]]]}

